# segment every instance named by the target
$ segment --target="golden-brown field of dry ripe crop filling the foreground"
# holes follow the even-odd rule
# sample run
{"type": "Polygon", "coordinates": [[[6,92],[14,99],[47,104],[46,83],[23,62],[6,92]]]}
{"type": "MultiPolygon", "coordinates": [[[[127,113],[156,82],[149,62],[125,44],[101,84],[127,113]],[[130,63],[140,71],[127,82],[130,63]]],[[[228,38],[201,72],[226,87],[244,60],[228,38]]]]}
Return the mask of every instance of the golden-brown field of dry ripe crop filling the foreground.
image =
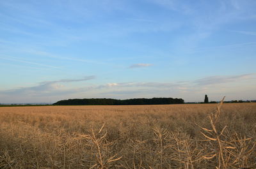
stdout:
{"type": "Polygon", "coordinates": [[[0,107],[0,168],[255,168],[256,103],[0,107]]]}

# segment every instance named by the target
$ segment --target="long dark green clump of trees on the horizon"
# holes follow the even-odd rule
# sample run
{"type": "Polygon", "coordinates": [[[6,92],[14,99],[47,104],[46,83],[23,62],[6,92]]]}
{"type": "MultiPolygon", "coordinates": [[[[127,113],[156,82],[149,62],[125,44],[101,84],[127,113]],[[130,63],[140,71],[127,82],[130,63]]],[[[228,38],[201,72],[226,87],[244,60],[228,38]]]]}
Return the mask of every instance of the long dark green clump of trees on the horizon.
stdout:
{"type": "Polygon", "coordinates": [[[152,99],[65,99],[53,105],[168,105],[183,104],[184,99],[152,98],[152,99]]]}

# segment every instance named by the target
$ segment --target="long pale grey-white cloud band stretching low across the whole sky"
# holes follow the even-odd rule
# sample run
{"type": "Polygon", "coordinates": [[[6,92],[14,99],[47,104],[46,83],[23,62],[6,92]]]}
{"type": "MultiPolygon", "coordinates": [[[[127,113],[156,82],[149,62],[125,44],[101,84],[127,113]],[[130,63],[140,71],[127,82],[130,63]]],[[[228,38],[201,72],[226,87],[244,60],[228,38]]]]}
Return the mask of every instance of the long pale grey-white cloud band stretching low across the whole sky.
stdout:
{"type": "Polygon", "coordinates": [[[63,89],[61,83],[65,82],[82,82],[87,80],[94,79],[95,76],[88,76],[84,78],[77,79],[61,79],[53,81],[40,82],[38,85],[32,87],[20,87],[18,89],[11,89],[6,91],[0,91],[0,94],[42,94],[59,91],[67,93],[70,92],[85,92],[85,91],[134,91],[135,89],[139,90],[161,90],[161,91],[198,91],[202,87],[209,87],[209,85],[218,85],[218,84],[228,84],[232,82],[241,82],[243,80],[252,80],[256,78],[256,73],[244,74],[244,75],[234,75],[234,76],[212,76],[200,78],[198,80],[184,81],[184,82],[124,82],[124,83],[108,83],[103,85],[92,85],[87,87],[78,87],[74,89],[63,89]],[[62,90],[63,89],[63,90],[62,90]]]}

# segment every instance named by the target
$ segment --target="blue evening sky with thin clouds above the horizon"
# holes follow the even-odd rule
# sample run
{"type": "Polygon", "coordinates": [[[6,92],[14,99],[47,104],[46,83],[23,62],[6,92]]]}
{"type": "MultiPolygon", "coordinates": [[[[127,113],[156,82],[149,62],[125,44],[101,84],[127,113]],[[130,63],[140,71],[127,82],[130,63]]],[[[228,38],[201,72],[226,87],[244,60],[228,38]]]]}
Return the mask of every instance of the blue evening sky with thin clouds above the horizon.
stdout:
{"type": "Polygon", "coordinates": [[[0,103],[256,99],[255,0],[0,1],[0,103]]]}

